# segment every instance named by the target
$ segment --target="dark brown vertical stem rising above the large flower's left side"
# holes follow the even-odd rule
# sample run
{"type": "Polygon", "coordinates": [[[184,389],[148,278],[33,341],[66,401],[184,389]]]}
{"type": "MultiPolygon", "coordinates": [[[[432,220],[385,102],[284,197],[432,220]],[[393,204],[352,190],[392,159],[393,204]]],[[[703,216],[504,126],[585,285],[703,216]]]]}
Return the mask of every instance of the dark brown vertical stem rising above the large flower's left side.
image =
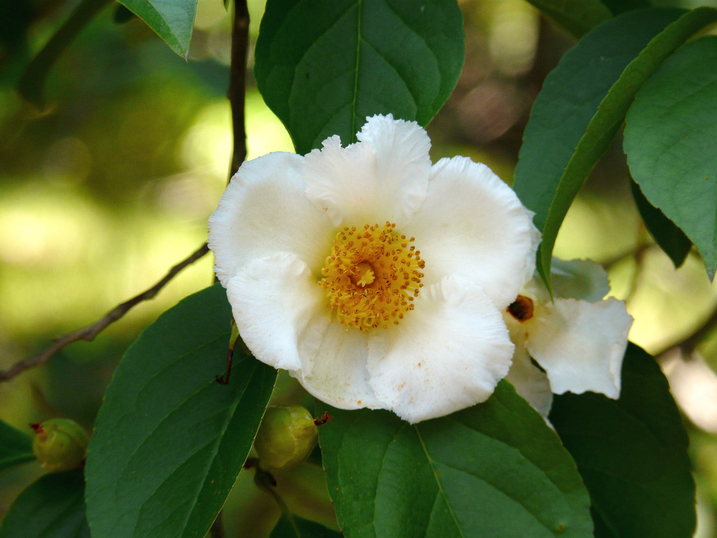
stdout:
{"type": "Polygon", "coordinates": [[[232,131],[234,148],[231,178],[247,158],[247,133],[244,127],[244,95],[247,83],[247,50],[249,49],[249,9],[247,0],[234,2],[234,24],[232,26],[232,62],[229,67],[229,90],[227,98],[232,106],[232,131]]]}

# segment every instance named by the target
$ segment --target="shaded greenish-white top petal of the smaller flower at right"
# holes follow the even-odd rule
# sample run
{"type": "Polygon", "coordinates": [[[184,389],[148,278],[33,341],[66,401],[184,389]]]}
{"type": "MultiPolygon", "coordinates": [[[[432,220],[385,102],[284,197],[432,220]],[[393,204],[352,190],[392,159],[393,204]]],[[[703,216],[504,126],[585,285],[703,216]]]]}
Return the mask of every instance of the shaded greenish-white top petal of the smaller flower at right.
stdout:
{"type": "Polygon", "coordinates": [[[553,258],[550,273],[553,293],[558,297],[594,303],[610,292],[607,273],[592,260],[553,258]]]}

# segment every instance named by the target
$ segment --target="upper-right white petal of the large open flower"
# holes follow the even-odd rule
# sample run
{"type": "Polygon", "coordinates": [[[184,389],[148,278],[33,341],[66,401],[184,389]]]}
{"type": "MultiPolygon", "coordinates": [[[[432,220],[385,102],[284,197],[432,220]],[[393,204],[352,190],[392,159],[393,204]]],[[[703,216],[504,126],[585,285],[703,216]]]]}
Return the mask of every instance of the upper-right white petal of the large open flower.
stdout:
{"type": "Polygon", "coordinates": [[[428,194],[406,230],[426,262],[424,283],[460,275],[502,310],[533,266],[536,231],[513,189],[467,157],[433,166],[428,194]]]}

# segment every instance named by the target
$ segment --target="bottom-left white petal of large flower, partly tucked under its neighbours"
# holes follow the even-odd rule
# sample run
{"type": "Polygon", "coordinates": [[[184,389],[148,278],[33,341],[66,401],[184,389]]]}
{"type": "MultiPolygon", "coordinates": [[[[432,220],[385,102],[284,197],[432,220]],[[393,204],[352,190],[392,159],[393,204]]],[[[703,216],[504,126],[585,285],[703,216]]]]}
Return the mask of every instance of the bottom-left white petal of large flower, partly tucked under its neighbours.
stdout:
{"type": "Polygon", "coordinates": [[[300,341],[302,369],[292,372],[319,400],[340,409],[386,407],[369,386],[366,370],[367,335],[355,327],[323,318],[310,321],[300,341]]]}

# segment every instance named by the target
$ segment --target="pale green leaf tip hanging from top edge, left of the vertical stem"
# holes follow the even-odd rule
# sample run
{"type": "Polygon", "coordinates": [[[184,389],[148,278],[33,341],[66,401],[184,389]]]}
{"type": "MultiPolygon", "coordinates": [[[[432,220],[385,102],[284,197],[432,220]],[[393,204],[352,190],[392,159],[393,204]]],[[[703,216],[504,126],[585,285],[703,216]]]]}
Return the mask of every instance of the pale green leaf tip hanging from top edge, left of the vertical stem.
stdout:
{"type": "Polygon", "coordinates": [[[189,55],[198,0],[118,0],[136,14],[178,55],[189,55]]]}

